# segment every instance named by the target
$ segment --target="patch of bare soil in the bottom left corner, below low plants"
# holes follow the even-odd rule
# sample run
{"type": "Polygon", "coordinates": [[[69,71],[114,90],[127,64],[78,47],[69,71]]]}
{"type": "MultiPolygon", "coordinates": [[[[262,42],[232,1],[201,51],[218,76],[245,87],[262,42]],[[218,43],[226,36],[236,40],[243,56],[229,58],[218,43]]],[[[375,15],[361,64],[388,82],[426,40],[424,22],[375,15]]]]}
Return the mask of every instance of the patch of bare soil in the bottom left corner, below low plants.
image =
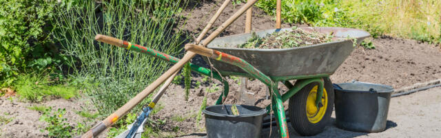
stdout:
{"type": "Polygon", "coordinates": [[[48,137],[48,132],[41,132],[48,125],[39,121],[43,112],[29,109],[33,106],[52,107],[54,111],[65,108],[63,117],[68,119],[68,124],[71,126],[85,122],[95,124],[99,120],[87,119],[75,113],[81,110],[96,112],[90,105],[90,101],[86,99],[52,99],[41,103],[30,103],[18,97],[12,99],[0,97],[0,116],[12,119],[8,124],[0,127],[0,137],[48,137]]]}

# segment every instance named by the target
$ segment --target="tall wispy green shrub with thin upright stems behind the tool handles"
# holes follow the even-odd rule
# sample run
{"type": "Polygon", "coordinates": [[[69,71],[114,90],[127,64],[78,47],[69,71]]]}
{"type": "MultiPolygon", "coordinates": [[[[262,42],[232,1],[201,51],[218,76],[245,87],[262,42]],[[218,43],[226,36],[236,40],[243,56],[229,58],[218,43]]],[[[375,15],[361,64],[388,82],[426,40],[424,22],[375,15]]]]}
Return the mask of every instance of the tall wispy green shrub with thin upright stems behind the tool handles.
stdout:
{"type": "MultiPolygon", "coordinates": [[[[90,80],[85,92],[101,115],[109,115],[161,75],[170,63],[94,40],[105,34],[147,48],[178,55],[181,51],[180,1],[79,1],[56,10],[54,39],[61,45],[70,72],[90,80]]],[[[137,112],[147,103],[136,107],[137,112]]]]}

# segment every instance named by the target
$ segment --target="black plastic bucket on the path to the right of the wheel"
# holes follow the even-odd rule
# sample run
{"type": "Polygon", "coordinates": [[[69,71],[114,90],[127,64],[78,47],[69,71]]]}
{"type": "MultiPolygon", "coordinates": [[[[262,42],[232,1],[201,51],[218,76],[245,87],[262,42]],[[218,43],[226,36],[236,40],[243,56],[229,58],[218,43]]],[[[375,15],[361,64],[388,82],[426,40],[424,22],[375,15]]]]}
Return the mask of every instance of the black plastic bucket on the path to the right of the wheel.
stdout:
{"type": "Polygon", "coordinates": [[[337,127],[358,132],[380,132],[386,128],[391,86],[376,83],[334,84],[337,127]]]}

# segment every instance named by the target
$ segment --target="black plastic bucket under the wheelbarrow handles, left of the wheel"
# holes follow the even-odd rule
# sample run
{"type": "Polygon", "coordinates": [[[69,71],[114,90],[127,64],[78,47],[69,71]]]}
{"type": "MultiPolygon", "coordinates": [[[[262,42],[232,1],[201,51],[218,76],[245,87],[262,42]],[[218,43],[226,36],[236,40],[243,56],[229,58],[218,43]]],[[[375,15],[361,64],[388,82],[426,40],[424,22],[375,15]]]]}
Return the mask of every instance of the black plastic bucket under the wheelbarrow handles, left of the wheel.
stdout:
{"type": "Polygon", "coordinates": [[[256,106],[236,105],[239,115],[233,115],[232,105],[208,106],[205,114],[207,137],[260,137],[263,115],[267,110],[256,106]]]}

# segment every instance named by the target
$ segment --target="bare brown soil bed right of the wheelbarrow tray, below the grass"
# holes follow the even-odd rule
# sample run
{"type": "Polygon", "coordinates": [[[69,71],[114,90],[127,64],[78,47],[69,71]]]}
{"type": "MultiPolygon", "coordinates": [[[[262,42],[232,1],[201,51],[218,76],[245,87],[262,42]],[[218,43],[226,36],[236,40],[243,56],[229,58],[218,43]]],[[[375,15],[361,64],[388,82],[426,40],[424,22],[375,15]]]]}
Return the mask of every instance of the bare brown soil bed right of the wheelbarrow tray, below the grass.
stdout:
{"type": "Polygon", "coordinates": [[[373,44],[374,50],[354,50],[331,80],[342,83],[355,79],[402,88],[441,78],[440,46],[386,36],[373,39],[373,44]]]}

